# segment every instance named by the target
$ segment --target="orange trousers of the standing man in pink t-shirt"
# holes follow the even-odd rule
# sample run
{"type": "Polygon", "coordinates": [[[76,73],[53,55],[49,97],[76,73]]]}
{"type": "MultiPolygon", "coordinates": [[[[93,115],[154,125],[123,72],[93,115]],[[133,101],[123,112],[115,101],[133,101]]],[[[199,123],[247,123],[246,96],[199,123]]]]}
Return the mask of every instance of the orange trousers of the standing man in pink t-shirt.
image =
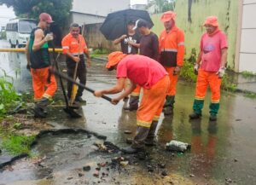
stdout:
{"type": "Polygon", "coordinates": [[[204,100],[207,87],[210,86],[212,92],[212,103],[218,103],[220,99],[221,78],[218,78],[216,72],[206,72],[199,69],[196,80],[195,100],[204,100]]]}

